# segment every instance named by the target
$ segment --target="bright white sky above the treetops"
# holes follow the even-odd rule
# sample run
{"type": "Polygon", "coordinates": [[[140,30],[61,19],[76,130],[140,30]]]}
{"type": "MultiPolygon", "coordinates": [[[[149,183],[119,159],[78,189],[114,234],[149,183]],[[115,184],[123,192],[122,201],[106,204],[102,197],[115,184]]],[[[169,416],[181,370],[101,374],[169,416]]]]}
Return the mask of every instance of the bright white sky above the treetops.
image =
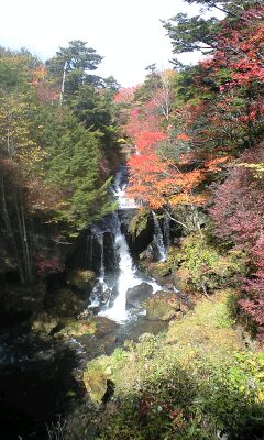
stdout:
{"type": "MultiPolygon", "coordinates": [[[[42,59],[73,40],[105,56],[97,73],[123,86],[141,82],[145,67],[167,68],[172,46],[161,19],[198,12],[182,0],[7,0],[1,4],[0,45],[26,47],[42,59]]],[[[195,62],[198,55],[183,55],[195,62]]]]}

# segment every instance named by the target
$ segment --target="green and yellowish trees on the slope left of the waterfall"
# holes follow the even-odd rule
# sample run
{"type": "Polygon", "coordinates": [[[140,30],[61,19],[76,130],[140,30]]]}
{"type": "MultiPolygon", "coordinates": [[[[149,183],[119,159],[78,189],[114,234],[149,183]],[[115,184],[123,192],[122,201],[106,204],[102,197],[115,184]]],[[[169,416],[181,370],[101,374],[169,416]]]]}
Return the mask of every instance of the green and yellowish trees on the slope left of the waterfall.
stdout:
{"type": "Polygon", "coordinates": [[[101,59],[80,41],[46,64],[1,48],[1,231],[22,282],[56,266],[35,243],[40,228],[65,241],[112,209],[118,85],[92,74],[101,59]]]}

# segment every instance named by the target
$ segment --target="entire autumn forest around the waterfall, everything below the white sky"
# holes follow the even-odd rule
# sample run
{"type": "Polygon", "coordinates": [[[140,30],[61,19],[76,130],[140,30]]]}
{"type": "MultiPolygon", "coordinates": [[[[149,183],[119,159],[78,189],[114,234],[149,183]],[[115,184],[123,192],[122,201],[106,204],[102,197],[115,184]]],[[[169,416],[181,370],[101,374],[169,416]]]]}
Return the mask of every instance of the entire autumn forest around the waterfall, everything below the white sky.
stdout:
{"type": "MultiPolygon", "coordinates": [[[[40,416],[18,398],[35,352],[24,383],[19,366],[6,385],[3,370],[3,440],[264,439],[264,4],[185,1],[200,13],[163,21],[172,69],[153,63],[131,88],[98,76],[102,56],[79,40],[45,63],[0,47],[0,349],[26,333],[29,353],[59,353],[51,381],[68,375],[47,405],[29,386],[40,416]],[[197,51],[196,65],[177,59],[197,51]],[[125,215],[112,189],[120,166],[125,215]],[[141,286],[160,285],[140,306],[128,286],[127,305],[131,295],[153,326],[140,321],[136,338],[87,308],[120,289],[108,284],[130,264],[122,243],[112,250],[120,231],[141,286]],[[68,341],[88,336],[74,370],[68,341]]],[[[42,385],[56,356],[37,358],[42,385]]]]}

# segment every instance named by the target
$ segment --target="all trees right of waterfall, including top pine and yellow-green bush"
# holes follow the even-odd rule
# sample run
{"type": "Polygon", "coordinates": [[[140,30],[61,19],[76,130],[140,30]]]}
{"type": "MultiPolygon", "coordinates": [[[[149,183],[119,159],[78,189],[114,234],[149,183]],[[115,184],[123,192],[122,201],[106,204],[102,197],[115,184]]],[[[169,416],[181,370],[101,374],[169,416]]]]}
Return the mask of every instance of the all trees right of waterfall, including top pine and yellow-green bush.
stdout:
{"type": "Polygon", "coordinates": [[[175,54],[200,48],[207,58],[178,70],[151,65],[143,85],[116,96],[136,145],[129,191],[193,234],[178,266],[194,287],[212,292],[220,268],[228,274],[238,264],[238,311],[262,340],[264,9],[255,1],[196,3],[226,18],[178,14],[164,28],[175,54]]]}

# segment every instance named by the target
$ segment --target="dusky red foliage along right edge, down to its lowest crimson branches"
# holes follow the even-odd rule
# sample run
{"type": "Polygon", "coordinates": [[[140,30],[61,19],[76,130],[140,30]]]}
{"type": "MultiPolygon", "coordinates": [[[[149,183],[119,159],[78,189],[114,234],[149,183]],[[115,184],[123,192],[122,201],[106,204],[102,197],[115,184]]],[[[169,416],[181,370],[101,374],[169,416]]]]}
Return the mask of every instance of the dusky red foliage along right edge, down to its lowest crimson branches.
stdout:
{"type": "MultiPolygon", "coordinates": [[[[262,161],[262,146],[241,156],[241,162],[262,161]]],[[[254,274],[245,279],[246,297],[239,304],[243,315],[254,323],[257,337],[262,340],[264,340],[263,199],[263,179],[256,178],[251,168],[234,167],[227,180],[216,190],[215,206],[210,210],[218,237],[245,250],[255,267],[254,274]]]]}

